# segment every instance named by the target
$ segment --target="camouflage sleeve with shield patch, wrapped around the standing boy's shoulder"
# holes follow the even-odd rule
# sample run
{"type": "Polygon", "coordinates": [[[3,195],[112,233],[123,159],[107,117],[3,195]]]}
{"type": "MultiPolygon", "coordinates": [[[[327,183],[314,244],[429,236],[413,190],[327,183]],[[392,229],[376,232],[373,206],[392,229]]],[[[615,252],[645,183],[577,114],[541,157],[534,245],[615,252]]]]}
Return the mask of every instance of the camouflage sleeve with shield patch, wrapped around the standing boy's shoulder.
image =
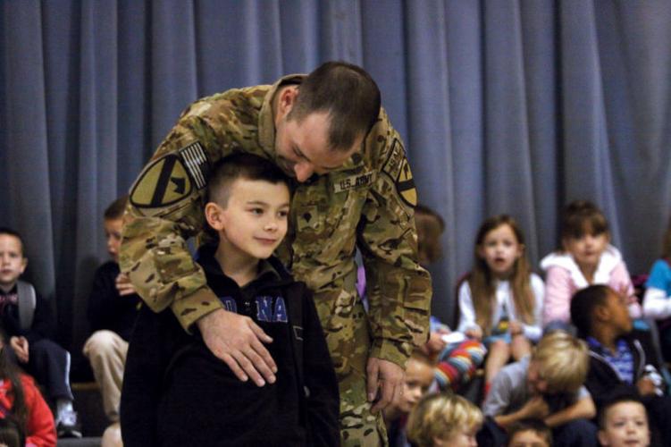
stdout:
{"type": "Polygon", "coordinates": [[[155,312],[172,307],[184,329],[221,308],[186,241],[202,228],[207,172],[218,157],[214,131],[182,118],[130,190],[119,263],[155,312]]]}

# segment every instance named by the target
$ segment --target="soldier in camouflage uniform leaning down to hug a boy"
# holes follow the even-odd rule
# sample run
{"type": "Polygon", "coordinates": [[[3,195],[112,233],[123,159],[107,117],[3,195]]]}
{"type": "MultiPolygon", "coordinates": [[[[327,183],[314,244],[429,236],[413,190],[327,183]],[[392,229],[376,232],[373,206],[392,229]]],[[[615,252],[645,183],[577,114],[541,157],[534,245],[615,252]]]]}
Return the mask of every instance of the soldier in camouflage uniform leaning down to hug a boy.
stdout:
{"type": "Polygon", "coordinates": [[[205,234],[209,166],[233,152],[268,158],[295,179],[278,255],[315,291],[340,384],[342,443],[386,444],[380,409],[401,392],[413,346],[426,342],[431,278],[417,262],[412,173],[375,82],[356,65],[331,62],[200,99],[130,191],[122,271],[147,306],[170,306],[240,380],[263,386],[276,372],[264,348],[272,339],[222,308],[185,243],[205,234]],[[356,292],[356,248],[368,313],[356,292]]]}

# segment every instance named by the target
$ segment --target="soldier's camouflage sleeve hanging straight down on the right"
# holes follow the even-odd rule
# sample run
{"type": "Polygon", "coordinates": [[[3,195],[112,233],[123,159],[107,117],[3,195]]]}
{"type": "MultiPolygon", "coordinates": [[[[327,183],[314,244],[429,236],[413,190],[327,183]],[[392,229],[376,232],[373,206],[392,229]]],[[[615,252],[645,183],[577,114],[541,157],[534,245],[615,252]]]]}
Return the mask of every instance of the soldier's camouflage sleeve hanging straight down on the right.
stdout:
{"type": "Polygon", "coordinates": [[[419,266],[416,190],[403,143],[384,112],[366,139],[379,168],[359,223],[373,346],[369,357],[405,368],[428,337],[431,277],[419,266]]]}

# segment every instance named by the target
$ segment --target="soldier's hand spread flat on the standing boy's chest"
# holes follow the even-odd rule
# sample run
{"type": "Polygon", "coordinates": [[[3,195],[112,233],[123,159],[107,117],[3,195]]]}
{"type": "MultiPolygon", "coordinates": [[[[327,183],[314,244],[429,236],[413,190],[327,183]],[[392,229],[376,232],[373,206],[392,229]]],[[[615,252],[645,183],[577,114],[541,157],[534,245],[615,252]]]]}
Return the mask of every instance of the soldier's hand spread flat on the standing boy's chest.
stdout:
{"type": "Polygon", "coordinates": [[[251,378],[258,386],[275,382],[277,366],[262,343],[273,339],[251,318],[220,308],[199,318],[196,324],[207,348],[241,381],[251,378]]]}

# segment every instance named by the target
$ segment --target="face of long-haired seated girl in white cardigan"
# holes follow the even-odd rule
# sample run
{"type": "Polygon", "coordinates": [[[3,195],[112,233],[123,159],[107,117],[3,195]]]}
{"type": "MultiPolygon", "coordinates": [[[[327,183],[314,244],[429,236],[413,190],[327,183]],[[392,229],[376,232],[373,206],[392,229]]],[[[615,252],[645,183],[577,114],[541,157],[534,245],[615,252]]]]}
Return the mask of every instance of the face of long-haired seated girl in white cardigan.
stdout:
{"type": "Polygon", "coordinates": [[[499,279],[505,279],[512,273],[516,260],[523,252],[524,245],[519,243],[513,229],[505,223],[485,234],[482,245],[478,247],[478,254],[499,279]]]}

